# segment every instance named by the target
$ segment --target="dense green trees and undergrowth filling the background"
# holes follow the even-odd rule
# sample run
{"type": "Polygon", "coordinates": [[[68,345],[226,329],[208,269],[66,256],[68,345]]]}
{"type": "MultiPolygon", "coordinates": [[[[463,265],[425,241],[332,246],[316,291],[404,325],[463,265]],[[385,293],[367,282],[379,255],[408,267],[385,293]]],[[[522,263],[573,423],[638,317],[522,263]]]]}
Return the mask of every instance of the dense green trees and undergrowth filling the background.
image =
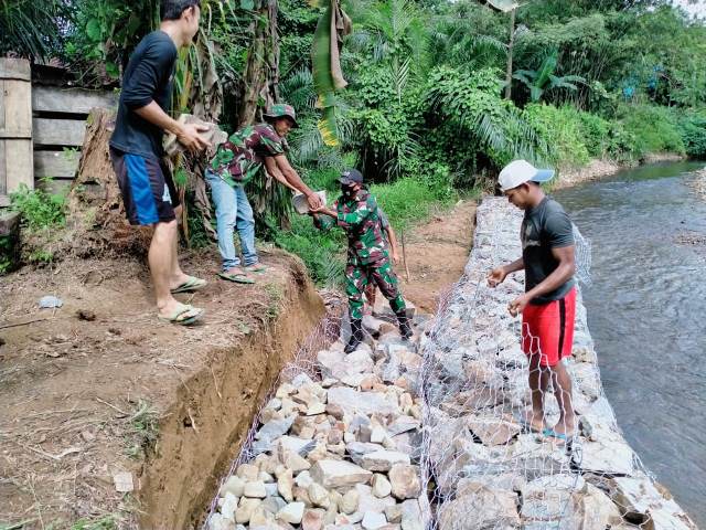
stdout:
{"type": "MultiPolygon", "coordinates": [[[[157,3],[6,0],[0,52],[54,54],[84,78],[116,80],[135,43],[154,26],[157,3]],[[25,4],[36,11],[32,23],[18,9],[25,4]]],[[[207,41],[225,88],[222,124],[233,130],[253,29],[266,21],[257,1],[202,3],[200,42],[207,41]]],[[[311,73],[323,8],[278,2],[278,89],[301,124],[290,158],[312,188],[331,195],[342,168],[361,168],[394,225],[492,188],[498,170],[517,157],[558,168],[592,158],[630,162],[651,152],[706,157],[706,28],[666,0],[525,2],[512,47],[510,15],[478,0],[359,0],[344,8],[353,19],[341,55],[349,86],[333,98],[340,146],[331,148],[317,126],[311,73]]],[[[199,61],[192,64],[197,72],[199,61]]],[[[183,92],[185,71],[176,77],[183,92]]],[[[263,202],[274,192],[259,184],[250,192],[263,202]]],[[[286,193],[268,199],[277,219],[260,220],[267,227],[260,233],[303,256],[319,280],[335,279],[332,256],[342,236],[315,232],[307,218],[282,230],[286,203],[286,193]]],[[[203,231],[191,233],[205,242],[203,231]]]]}

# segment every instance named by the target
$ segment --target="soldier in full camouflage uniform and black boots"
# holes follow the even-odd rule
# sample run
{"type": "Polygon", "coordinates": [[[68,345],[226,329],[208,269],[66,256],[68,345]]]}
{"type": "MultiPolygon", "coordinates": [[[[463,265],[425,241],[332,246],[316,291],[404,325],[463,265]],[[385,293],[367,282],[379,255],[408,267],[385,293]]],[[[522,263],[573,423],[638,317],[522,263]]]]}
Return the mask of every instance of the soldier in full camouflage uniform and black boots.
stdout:
{"type": "Polygon", "coordinates": [[[363,176],[360,171],[345,171],[340,182],[343,195],[335,202],[335,210],[315,210],[314,223],[322,230],[338,224],[349,236],[345,294],[349,297],[352,333],[345,352],[354,351],[363,340],[363,295],[371,282],[374,282],[383,296],[389,300],[389,306],[397,315],[402,337],[409,339],[413,331],[407,318],[407,307],[385,245],[377,201],[363,188],[363,176]]]}

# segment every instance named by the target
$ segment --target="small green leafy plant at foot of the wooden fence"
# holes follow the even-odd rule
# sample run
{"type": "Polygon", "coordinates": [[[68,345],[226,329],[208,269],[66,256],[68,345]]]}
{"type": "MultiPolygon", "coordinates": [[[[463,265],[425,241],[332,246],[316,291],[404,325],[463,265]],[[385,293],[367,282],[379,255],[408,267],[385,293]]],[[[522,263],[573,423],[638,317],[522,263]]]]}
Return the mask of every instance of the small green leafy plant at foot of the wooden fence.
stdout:
{"type": "Polygon", "coordinates": [[[63,226],[66,221],[66,193],[50,193],[43,189],[30,190],[25,184],[10,193],[12,210],[22,214],[30,231],[63,226]]]}

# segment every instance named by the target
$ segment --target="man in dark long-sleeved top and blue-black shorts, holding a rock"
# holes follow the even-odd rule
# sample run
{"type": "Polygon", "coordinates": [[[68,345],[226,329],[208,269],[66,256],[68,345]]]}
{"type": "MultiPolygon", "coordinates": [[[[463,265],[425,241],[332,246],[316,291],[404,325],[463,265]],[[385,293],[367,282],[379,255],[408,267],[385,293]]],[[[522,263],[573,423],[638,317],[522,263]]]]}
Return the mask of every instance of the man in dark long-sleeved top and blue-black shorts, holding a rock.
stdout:
{"type": "Polygon", "coordinates": [[[206,282],[181,271],[176,255],[179,200],[172,176],[162,161],[162,137],[173,132],[190,151],[208,145],[199,136],[206,128],[184,125],[167,113],[171,106],[178,50],[191,45],[199,31],[200,0],[162,0],[162,23],[147,35],[125,71],[110,157],[130,224],[154,227],[149,265],[159,318],[192,324],[203,310],[180,304],[172,295],[196,290],[206,282]]]}

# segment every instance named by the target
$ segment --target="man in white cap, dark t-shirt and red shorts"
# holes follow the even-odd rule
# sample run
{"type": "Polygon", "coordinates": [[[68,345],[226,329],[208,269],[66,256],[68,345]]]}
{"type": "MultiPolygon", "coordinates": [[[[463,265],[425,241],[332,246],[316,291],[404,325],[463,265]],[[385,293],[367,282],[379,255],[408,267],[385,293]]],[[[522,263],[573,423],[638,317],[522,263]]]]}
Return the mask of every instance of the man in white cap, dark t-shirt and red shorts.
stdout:
{"type": "Polygon", "coordinates": [[[530,430],[566,442],[576,433],[571,378],[563,362],[571,354],[574,341],[576,264],[571,220],[541,186],[553,177],[553,170],[537,169],[525,160],[515,160],[500,172],[500,189],[525,212],[522,257],[493,269],[488,283],[495,287],[509,274],[525,272],[525,294],[509,306],[513,317],[522,312],[522,348],[530,358],[532,411],[523,420],[530,430]],[[544,420],[549,381],[560,411],[552,428],[544,420]]]}

